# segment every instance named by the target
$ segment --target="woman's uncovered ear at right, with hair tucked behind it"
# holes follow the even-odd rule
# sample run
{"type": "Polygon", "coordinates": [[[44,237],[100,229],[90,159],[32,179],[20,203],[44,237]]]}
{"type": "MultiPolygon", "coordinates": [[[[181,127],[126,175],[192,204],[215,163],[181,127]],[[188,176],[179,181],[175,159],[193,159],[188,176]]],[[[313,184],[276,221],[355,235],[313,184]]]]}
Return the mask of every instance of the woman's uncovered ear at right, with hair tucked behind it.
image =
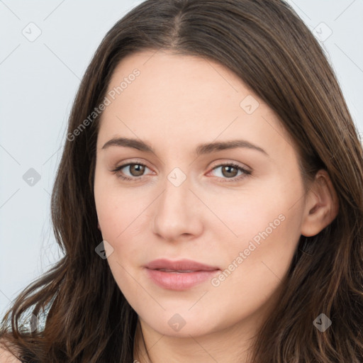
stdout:
{"type": "Polygon", "coordinates": [[[306,197],[301,234],[306,237],[317,235],[337,216],[339,201],[326,170],[320,169],[306,197]]]}

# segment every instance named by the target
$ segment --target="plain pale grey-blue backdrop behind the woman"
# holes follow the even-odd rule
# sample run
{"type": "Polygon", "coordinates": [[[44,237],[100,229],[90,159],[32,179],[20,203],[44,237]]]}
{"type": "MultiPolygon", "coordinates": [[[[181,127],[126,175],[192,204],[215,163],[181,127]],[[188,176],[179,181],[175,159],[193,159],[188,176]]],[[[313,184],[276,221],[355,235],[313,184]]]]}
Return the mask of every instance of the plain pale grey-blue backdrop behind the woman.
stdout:
{"type": "MultiPolygon", "coordinates": [[[[50,192],[72,101],[106,32],[141,2],[0,0],[0,317],[62,257],[50,192]]],[[[323,44],[360,132],[363,1],[288,2],[323,44]]]]}

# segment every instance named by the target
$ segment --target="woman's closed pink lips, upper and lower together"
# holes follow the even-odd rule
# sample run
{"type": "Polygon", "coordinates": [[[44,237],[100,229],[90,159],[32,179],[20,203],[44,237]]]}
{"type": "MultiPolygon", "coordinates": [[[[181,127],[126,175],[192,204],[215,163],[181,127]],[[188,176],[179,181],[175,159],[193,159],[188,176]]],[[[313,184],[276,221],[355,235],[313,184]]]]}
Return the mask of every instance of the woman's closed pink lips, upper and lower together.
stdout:
{"type": "Polygon", "coordinates": [[[210,280],[216,272],[220,271],[218,267],[208,266],[190,259],[179,259],[178,261],[155,259],[147,264],[145,268],[148,276],[155,284],[164,289],[179,291],[189,289],[208,279],[210,280]],[[174,272],[160,271],[160,269],[173,270],[174,272]]]}

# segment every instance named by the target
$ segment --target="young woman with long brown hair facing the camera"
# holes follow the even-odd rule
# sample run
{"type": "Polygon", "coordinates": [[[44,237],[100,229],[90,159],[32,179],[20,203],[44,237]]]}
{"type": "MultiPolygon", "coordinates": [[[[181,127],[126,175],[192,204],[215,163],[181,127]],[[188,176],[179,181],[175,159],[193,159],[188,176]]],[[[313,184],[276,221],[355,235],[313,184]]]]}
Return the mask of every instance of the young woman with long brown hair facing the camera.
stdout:
{"type": "Polygon", "coordinates": [[[362,362],[362,184],[337,79],[288,4],[147,0],[82,80],[52,191],[65,257],[18,296],[4,345],[362,362]]]}

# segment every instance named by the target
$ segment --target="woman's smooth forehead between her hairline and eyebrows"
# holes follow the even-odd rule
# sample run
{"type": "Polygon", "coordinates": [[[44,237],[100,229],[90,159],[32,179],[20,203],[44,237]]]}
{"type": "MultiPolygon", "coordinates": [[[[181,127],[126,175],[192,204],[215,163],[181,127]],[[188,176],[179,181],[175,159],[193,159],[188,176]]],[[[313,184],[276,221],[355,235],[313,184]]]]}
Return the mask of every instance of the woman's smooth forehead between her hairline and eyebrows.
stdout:
{"type": "Polygon", "coordinates": [[[110,104],[99,130],[104,142],[121,134],[143,140],[152,135],[155,143],[160,138],[171,147],[179,139],[199,143],[236,134],[253,140],[268,124],[284,135],[271,108],[236,74],[203,57],[162,50],[128,55],[113,72],[106,96],[110,104]]]}

